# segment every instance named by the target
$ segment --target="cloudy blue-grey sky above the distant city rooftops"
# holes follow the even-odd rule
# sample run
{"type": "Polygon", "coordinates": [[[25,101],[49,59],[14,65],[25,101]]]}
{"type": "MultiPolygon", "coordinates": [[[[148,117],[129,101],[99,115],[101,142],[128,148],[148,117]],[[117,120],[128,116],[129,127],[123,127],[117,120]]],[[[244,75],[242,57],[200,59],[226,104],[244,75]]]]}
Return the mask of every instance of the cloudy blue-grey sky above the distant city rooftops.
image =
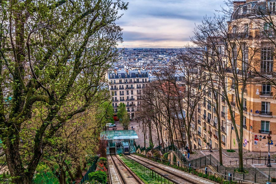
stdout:
{"type": "Polygon", "coordinates": [[[193,36],[195,24],[224,6],[223,0],[128,0],[117,21],[123,30],[120,48],[180,48],[193,36]]]}

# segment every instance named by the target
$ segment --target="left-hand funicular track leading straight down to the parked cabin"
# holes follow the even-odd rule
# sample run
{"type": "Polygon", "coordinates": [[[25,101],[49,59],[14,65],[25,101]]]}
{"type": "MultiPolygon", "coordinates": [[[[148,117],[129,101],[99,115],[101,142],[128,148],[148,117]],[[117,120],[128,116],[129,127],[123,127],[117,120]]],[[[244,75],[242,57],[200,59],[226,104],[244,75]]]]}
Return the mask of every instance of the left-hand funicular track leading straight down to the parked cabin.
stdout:
{"type": "Polygon", "coordinates": [[[120,184],[145,184],[135,173],[133,173],[117,155],[109,155],[120,184]]]}

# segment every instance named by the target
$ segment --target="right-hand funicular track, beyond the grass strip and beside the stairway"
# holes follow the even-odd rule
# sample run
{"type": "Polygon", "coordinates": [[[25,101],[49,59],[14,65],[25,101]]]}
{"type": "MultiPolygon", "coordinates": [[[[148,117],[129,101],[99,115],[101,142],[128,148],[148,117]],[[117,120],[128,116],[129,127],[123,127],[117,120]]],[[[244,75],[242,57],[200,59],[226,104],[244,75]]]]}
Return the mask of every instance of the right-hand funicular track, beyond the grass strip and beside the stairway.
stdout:
{"type": "Polygon", "coordinates": [[[209,182],[203,179],[199,179],[193,175],[185,174],[182,171],[179,171],[177,169],[174,169],[172,167],[165,166],[163,164],[159,163],[153,163],[151,160],[144,159],[142,157],[136,156],[136,155],[125,155],[126,157],[133,159],[134,161],[144,165],[145,167],[150,168],[152,171],[170,179],[172,182],[176,184],[213,184],[213,182],[209,182]],[[200,181],[202,180],[202,181],[200,181]]]}

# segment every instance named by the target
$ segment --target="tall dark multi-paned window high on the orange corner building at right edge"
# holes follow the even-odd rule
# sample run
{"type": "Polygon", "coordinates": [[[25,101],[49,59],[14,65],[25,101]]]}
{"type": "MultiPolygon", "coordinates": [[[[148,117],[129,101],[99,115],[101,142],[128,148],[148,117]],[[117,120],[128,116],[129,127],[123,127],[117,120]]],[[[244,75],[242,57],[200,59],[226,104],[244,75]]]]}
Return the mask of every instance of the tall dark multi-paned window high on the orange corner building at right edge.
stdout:
{"type": "Polygon", "coordinates": [[[269,73],[273,71],[273,46],[269,43],[261,45],[261,72],[269,73]]]}

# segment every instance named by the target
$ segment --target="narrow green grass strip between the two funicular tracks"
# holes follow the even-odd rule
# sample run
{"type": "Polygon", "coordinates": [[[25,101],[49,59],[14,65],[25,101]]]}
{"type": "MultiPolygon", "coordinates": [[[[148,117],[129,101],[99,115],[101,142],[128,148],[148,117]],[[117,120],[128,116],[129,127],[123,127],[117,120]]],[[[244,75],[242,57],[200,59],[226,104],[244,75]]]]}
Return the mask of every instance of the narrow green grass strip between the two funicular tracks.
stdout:
{"type": "MultiPolygon", "coordinates": [[[[127,165],[131,171],[133,171],[144,183],[146,184],[161,184],[161,179],[159,177],[159,182],[157,180],[157,175],[156,175],[156,181],[155,177],[152,178],[151,176],[146,173],[146,171],[142,171],[139,169],[139,167],[136,167],[134,164],[130,163],[127,159],[124,157],[120,157],[121,160],[127,165]]],[[[164,178],[162,178],[162,183],[164,183],[164,178]]]]}

